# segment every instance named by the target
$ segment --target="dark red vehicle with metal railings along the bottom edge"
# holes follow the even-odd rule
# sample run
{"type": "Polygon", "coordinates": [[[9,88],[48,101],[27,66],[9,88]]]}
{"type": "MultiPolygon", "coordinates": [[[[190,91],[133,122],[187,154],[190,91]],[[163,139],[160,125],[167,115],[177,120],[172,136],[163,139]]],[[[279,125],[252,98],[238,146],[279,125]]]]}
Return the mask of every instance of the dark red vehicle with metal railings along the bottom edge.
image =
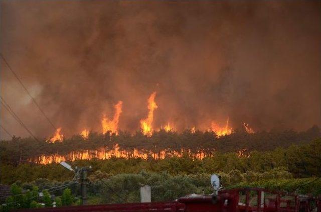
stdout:
{"type": "Polygon", "coordinates": [[[251,212],[251,211],[282,211],[312,212],[321,211],[321,198],[308,195],[291,195],[271,192],[262,188],[245,188],[219,191],[217,195],[189,195],[173,202],[129,203],[72,206],[59,208],[21,209],[20,212],[251,212]]]}

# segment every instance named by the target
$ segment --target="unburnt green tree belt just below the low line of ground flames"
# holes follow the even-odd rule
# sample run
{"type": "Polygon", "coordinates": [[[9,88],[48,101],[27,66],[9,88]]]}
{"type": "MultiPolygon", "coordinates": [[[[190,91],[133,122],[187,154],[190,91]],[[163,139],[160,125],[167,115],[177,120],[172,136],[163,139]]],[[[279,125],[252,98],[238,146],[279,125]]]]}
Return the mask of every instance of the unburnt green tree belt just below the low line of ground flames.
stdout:
{"type": "MultiPolygon", "coordinates": [[[[197,173],[229,173],[238,170],[241,173],[254,171],[264,173],[275,168],[285,168],[295,178],[319,176],[321,173],[321,139],[308,144],[278,147],[271,151],[252,151],[248,155],[216,152],[212,157],[193,159],[188,156],[168,157],[163,160],[140,158],[111,158],[107,160],[76,160],[71,165],[91,166],[92,172],[104,171],[108,174],[139,173],[142,170],[171,175],[197,173]]],[[[1,164],[0,181],[12,184],[17,180],[34,181],[38,178],[65,181],[72,178],[72,172],[59,164],[37,165],[21,163],[19,165],[1,164]]]]}

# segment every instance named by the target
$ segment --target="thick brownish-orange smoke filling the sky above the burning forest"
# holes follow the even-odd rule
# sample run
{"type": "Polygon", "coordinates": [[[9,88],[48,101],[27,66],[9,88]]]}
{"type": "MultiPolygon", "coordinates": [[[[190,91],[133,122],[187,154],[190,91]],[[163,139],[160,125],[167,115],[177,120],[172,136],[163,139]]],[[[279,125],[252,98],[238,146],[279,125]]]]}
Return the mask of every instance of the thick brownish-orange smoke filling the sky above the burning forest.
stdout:
{"type": "MultiPolygon", "coordinates": [[[[123,101],[134,132],[321,125],[319,1],[2,0],[1,52],[62,133],[101,132],[123,101]]],[[[1,61],[1,95],[39,137],[54,130],[1,61]]],[[[1,110],[12,134],[25,130],[1,110]]],[[[8,136],[1,131],[1,138],[8,136]]]]}

